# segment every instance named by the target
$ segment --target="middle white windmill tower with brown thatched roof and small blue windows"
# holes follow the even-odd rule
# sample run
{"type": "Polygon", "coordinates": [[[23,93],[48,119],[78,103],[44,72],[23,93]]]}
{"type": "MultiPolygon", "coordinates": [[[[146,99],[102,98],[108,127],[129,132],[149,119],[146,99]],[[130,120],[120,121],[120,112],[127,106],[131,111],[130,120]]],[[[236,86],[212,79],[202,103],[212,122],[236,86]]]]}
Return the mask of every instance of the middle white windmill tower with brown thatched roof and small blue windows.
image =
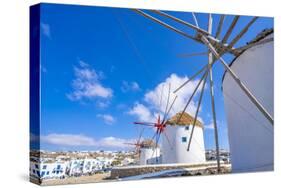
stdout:
{"type": "Polygon", "coordinates": [[[162,163],[205,163],[203,124],[196,121],[193,133],[195,141],[192,142],[190,150],[187,151],[186,144],[190,138],[194,118],[185,112],[178,121],[179,116],[181,113],[177,113],[167,122],[165,130],[167,136],[162,138],[162,163]]]}

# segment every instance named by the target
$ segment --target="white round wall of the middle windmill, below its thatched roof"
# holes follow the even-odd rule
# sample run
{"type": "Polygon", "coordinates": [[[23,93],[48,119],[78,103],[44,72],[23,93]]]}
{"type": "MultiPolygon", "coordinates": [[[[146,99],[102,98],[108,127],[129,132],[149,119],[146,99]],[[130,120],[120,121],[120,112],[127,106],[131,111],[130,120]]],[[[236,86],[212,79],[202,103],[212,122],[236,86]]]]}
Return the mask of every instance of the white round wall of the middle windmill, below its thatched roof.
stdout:
{"type": "Polygon", "coordinates": [[[162,136],[162,163],[203,163],[205,159],[205,147],[203,129],[195,126],[190,150],[187,151],[188,141],[192,126],[167,126],[165,135],[162,136]],[[186,137],[186,142],[182,141],[186,137]],[[169,144],[169,141],[171,144],[169,144]]]}

